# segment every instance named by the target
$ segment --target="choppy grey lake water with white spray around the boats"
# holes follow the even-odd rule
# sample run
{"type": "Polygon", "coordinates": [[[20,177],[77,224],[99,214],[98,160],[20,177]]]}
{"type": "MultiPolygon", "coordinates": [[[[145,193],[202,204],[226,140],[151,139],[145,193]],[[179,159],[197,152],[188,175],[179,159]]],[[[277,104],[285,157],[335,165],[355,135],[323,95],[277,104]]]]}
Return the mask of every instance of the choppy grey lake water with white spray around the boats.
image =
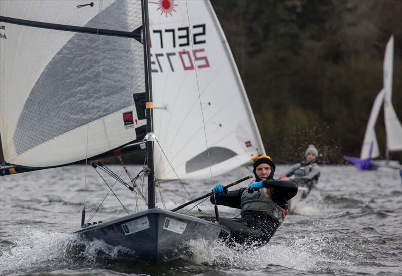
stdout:
{"type": "MultiPolygon", "coordinates": [[[[122,171],[121,166],[111,168],[118,174],[122,171]]],[[[287,168],[277,166],[276,175],[287,168]]],[[[141,167],[129,169],[135,176],[141,167]]],[[[297,214],[286,217],[268,245],[257,250],[236,250],[218,242],[194,241],[190,244],[192,257],[157,265],[117,259],[119,248],[69,234],[80,227],[84,202],[88,218],[108,192],[91,167],[70,166],[2,177],[0,274],[402,275],[399,172],[360,172],[352,166],[321,169],[318,188],[298,206],[297,214]],[[77,245],[81,246],[78,253],[77,245]]],[[[208,193],[216,183],[230,183],[249,173],[247,168],[240,168],[214,179],[213,184],[211,180],[193,181],[186,183],[186,188],[197,197],[208,193]]],[[[106,180],[114,183],[110,178],[106,180]]],[[[134,210],[133,195],[118,185],[114,187],[116,194],[128,210],[134,210]]],[[[180,184],[161,186],[167,209],[186,202],[180,184]]],[[[200,207],[214,214],[208,201],[200,207]]],[[[239,214],[235,209],[219,210],[222,217],[239,214]]],[[[94,220],[106,221],[125,214],[116,198],[109,195],[94,220]]]]}

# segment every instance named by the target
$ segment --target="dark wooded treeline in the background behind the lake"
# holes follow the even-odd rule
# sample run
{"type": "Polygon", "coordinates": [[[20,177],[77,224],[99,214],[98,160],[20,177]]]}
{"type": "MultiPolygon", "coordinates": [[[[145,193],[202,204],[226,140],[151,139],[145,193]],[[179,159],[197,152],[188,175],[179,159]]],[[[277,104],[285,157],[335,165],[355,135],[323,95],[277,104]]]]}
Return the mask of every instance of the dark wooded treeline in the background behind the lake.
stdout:
{"type": "MultiPolygon", "coordinates": [[[[308,144],[316,145],[325,163],[360,156],[392,34],[392,101],[402,119],[402,1],[211,2],[275,162],[299,161],[308,144]]],[[[380,112],[376,132],[382,158],[383,120],[380,112]]],[[[390,157],[402,160],[402,153],[390,157]]]]}

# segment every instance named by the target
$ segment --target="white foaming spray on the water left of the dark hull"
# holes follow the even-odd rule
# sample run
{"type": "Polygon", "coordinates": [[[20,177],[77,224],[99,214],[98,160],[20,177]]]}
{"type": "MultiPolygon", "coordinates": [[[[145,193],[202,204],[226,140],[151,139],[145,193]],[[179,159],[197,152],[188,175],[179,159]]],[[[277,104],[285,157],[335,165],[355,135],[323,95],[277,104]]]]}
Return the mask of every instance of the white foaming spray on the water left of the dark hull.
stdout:
{"type": "Polygon", "coordinates": [[[0,255],[0,271],[21,270],[33,266],[71,267],[77,260],[95,263],[99,258],[116,258],[133,253],[122,246],[102,240],[88,241],[76,234],[45,232],[26,227],[17,233],[15,246],[0,255]]]}

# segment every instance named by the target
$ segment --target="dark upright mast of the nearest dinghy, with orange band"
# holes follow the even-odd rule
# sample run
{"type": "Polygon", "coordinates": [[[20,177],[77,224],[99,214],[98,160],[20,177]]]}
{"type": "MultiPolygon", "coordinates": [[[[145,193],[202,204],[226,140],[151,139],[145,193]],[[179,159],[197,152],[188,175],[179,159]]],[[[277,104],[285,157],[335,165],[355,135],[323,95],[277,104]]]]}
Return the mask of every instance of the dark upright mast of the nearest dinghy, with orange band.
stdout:
{"type": "Polygon", "coordinates": [[[155,183],[154,183],[154,142],[153,142],[153,104],[152,104],[152,83],[151,83],[151,63],[149,46],[149,21],[148,21],[148,0],[141,1],[142,8],[142,35],[144,44],[144,69],[145,69],[145,99],[147,116],[147,163],[149,168],[148,175],[148,209],[155,208],[155,183]]]}

